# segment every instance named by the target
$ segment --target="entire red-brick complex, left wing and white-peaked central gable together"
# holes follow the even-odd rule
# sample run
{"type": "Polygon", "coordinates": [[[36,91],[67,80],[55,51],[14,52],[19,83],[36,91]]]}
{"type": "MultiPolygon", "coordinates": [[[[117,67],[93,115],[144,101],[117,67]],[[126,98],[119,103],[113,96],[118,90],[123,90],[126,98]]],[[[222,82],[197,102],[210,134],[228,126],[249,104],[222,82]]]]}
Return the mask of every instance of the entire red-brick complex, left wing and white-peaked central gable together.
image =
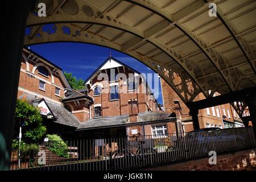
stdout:
{"type": "Polygon", "coordinates": [[[17,97],[40,107],[48,133],[81,139],[176,131],[176,118],[160,111],[140,73],[111,56],[81,90],[73,90],[60,67],[30,49],[22,57],[17,97]]]}

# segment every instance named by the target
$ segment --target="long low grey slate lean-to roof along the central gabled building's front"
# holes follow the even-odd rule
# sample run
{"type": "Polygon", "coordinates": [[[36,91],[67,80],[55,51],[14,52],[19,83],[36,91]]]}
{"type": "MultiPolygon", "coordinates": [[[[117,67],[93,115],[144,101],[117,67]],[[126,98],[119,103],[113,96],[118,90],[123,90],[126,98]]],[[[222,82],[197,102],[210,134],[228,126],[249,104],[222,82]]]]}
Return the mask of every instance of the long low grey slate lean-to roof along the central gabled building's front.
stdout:
{"type": "Polygon", "coordinates": [[[137,123],[146,123],[146,122],[171,122],[176,118],[170,117],[171,113],[163,113],[156,111],[147,111],[145,113],[138,114],[138,122],[130,123],[129,115],[121,115],[116,117],[106,117],[106,118],[96,118],[90,119],[89,121],[85,121],[80,123],[77,130],[86,130],[86,129],[96,129],[103,127],[118,127],[125,125],[136,125],[137,123]]]}

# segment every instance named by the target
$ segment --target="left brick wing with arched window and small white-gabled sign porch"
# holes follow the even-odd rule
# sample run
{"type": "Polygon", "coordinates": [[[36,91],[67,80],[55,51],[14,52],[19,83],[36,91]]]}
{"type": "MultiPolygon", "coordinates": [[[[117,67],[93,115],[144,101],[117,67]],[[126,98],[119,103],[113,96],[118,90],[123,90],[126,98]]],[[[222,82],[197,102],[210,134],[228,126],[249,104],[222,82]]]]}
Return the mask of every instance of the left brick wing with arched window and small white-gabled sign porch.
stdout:
{"type": "Polygon", "coordinates": [[[48,133],[72,133],[80,122],[63,106],[65,90],[71,86],[62,69],[27,48],[21,62],[17,98],[40,107],[48,133]]]}

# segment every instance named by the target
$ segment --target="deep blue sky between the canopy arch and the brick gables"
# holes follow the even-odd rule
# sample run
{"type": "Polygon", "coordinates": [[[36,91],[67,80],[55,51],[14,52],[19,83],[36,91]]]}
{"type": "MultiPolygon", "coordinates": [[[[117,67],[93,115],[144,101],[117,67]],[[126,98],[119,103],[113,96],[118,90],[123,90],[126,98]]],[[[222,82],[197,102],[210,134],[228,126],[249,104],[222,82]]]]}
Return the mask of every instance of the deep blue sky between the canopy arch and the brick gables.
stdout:
{"type": "MultiPolygon", "coordinates": [[[[138,60],[125,55],[124,53],[115,51],[110,48],[96,46],[84,43],[47,43],[29,46],[32,51],[45,57],[52,63],[58,65],[65,72],[73,73],[73,76],[86,80],[108,57],[109,52],[112,56],[129,65],[140,73],[155,73],[138,60]]],[[[157,78],[158,76],[155,75],[157,78]]],[[[160,81],[154,85],[152,81],[148,81],[148,85],[152,89],[158,102],[162,104],[162,91],[160,81]]]]}

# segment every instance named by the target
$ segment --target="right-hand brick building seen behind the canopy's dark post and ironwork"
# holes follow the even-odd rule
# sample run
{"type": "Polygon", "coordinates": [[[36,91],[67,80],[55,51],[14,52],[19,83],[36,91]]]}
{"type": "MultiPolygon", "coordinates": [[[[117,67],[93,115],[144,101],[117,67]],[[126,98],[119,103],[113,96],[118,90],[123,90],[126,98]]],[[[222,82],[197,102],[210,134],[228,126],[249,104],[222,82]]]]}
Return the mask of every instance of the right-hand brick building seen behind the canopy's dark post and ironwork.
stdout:
{"type": "MultiPolygon", "coordinates": [[[[179,96],[174,92],[170,85],[161,79],[163,105],[167,112],[175,111],[177,115],[177,122],[181,123],[183,131],[188,132],[193,130],[192,118],[189,115],[189,109],[179,96]]],[[[214,93],[214,96],[220,95],[214,93]]],[[[196,96],[195,100],[204,99],[203,94],[196,96]]],[[[243,115],[249,115],[246,111],[243,115]]],[[[243,127],[243,122],[231,104],[224,104],[199,110],[199,125],[200,128],[205,127],[220,127],[221,129],[227,127],[243,127]]]]}

